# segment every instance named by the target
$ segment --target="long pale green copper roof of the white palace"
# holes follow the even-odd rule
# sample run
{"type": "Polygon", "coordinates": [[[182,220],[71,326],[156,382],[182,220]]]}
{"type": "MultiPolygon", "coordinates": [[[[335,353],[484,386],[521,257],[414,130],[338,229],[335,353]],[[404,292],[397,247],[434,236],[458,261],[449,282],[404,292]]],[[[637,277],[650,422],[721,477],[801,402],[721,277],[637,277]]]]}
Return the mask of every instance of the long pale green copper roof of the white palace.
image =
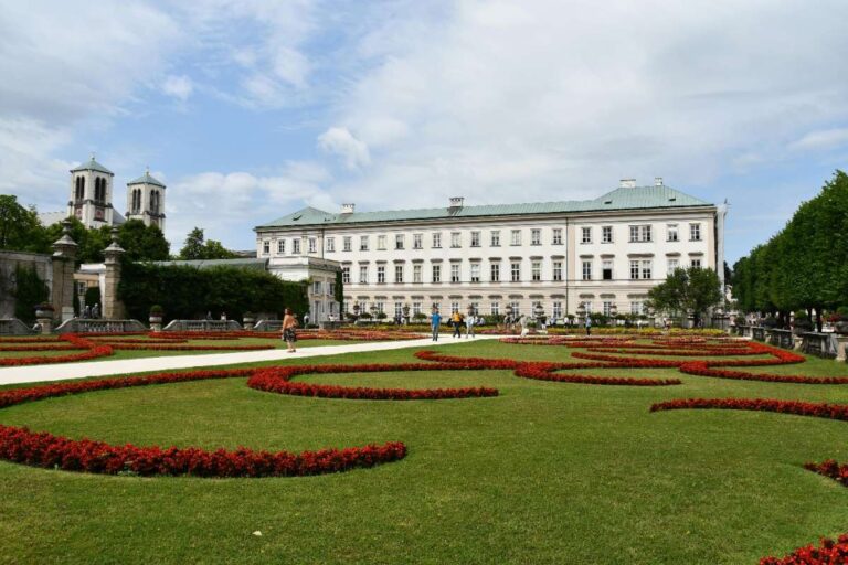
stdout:
{"type": "Polygon", "coordinates": [[[459,209],[432,207],[421,210],[331,214],[329,212],[324,212],[322,210],[305,207],[267,224],[256,226],[254,230],[263,227],[294,227],[306,225],[343,225],[364,222],[402,222],[410,220],[601,212],[608,210],[675,209],[709,205],[711,204],[708,202],[683,194],[669,186],[636,186],[616,189],[594,200],[537,202],[529,204],[490,204],[484,206],[464,206],[459,209]]]}

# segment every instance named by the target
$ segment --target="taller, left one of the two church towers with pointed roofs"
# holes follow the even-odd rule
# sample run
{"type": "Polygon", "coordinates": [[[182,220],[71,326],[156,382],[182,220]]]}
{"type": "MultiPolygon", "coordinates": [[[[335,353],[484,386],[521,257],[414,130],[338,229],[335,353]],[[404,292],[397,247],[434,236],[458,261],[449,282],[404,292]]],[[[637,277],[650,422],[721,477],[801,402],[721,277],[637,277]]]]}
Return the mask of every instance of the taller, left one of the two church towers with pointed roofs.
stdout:
{"type": "Polygon", "coordinates": [[[110,170],[95,161],[94,153],[88,162],[71,169],[71,199],[67,215],[75,216],[86,227],[113,224],[110,170]]]}

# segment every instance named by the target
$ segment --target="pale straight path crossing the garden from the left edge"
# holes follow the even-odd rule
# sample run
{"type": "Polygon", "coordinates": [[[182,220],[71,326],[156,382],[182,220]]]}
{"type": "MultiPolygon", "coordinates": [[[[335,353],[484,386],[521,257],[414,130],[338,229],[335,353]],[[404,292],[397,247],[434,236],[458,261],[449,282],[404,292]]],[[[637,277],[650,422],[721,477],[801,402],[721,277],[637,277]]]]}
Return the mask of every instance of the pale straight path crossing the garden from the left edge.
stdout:
{"type": "MultiPolygon", "coordinates": [[[[477,340],[496,339],[500,335],[478,335],[477,340]]],[[[470,340],[463,339],[462,342],[470,340]]],[[[85,376],[119,375],[144,373],[147,371],[170,371],[194,366],[232,365],[256,361],[280,361],[300,358],[339,355],[341,353],[361,353],[365,351],[388,351],[404,348],[442,347],[459,343],[457,339],[444,335],[436,342],[430,338],[409,341],[374,341],[351,343],[348,345],[317,345],[299,348],[295,353],[285,349],[262,351],[242,351],[236,353],[210,353],[203,355],[171,355],[158,358],[123,359],[117,361],[87,361],[84,363],[56,363],[52,365],[10,366],[0,369],[0,384],[39,383],[43,381],[64,381],[85,376]]]]}

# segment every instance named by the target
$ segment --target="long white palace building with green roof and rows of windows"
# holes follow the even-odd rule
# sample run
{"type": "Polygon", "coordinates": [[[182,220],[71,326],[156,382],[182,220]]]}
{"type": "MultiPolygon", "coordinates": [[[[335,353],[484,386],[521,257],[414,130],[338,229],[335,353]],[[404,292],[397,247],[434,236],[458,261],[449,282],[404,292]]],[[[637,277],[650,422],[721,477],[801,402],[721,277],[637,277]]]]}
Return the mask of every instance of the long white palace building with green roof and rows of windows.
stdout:
{"type": "MultiPolygon", "coordinates": [[[[390,318],[473,307],[479,315],[562,319],[593,312],[643,313],[648,289],[677,267],[717,270],[723,279],[725,204],[625,179],[594,200],[340,213],[306,207],[259,225],[257,256],[295,257],[342,269],[344,305],[390,318]]],[[[338,316],[329,277],[310,288],[312,319],[338,316]],[[320,295],[320,296],[319,296],[320,295]],[[317,298],[320,298],[318,300],[317,298]]]]}

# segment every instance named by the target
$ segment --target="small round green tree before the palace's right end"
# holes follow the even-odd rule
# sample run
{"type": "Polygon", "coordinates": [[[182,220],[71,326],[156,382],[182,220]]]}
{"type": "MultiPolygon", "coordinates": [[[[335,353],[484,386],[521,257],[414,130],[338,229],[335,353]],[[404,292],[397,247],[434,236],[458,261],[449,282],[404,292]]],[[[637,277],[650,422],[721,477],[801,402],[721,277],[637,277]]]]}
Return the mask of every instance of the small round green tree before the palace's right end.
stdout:
{"type": "Polygon", "coordinates": [[[724,300],[721,281],[712,269],[701,267],[678,268],[665,282],[648,291],[648,306],[659,311],[691,313],[695,324],[708,310],[724,300]]]}

